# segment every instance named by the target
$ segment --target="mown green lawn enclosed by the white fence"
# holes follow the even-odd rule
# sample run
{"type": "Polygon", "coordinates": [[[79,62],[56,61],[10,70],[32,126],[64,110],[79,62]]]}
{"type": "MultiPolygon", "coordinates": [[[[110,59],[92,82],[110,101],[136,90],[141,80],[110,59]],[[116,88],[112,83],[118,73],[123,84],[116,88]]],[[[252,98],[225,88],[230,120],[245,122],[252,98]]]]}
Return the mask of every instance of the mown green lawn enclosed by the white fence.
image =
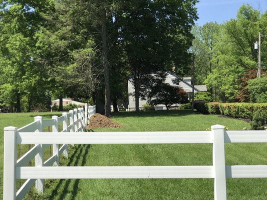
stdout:
{"type": "MultiPolygon", "coordinates": [[[[120,112],[111,119],[123,127],[91,131],[205,130],[213,124],[226,125],[229,130],[249,128],[242,120],[189,110],[120,112]]],[[[17,121],[13,125],[19,126],[17,121]]],[[[1,142],[3,149],[3,136],[1,142]]],[[[267,164],[266,150],[266,143],[225,144],[226,164],[267,164]]],[[[3,153],[1,156],[3,160],[3,153]]],[[[61,162],[70,166],[212,165],[212,144],[81,144],[70,146],[69,159],[61,162]]],[[[1,166],[3,174],[3,161],[1,166]]],[[[26,199],[213,199],[213,179],[208,178],[56,179],[45,184],[44,195],[33,192],[26,199]]],[[[266,185],[266,178],[227,179],[227,197],[267,199],[266,185]]]]}

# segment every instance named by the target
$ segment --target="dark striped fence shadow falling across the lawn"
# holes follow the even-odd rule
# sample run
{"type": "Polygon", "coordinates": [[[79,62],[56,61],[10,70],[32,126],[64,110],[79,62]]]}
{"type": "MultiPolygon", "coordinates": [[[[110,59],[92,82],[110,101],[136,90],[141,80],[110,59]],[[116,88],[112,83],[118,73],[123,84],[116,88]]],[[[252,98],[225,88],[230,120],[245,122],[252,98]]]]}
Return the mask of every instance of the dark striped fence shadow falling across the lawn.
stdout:
{"type": "MultiPolygon", "coordinates": [[[[90,144],[79,144],[73,152],[67,166],[77,166],[81,162],[81,166],[86,163],[86,158],[89,152],[90,144]]],[[[52,195],[49,198],[50,200],[55,199],[64,199],[65,195],[68,193],[68,187],[71,182],[74,181],[72,195],[69,199],[75,199],[78,192],[78,184],[80,179],[60,179],[55,189],[52,191],[52,195]],[[63,190],[58,194],[58,188],[63,187],[63,190]]]]}

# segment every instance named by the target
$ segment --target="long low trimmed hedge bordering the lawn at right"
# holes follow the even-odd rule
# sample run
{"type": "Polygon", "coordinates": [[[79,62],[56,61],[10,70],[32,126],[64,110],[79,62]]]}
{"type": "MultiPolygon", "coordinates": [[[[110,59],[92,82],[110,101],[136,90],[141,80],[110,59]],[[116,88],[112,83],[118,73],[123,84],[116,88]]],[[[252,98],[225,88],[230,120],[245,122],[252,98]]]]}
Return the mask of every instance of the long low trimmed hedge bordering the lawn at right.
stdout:
{"type": "Polygon", "coordinates": [[[219,103],[199,102],[196,109],[203,113],[223,114],[234,118],[252,119],[254,112],[259,111],[267,121],[267,103],[219,103]]]}

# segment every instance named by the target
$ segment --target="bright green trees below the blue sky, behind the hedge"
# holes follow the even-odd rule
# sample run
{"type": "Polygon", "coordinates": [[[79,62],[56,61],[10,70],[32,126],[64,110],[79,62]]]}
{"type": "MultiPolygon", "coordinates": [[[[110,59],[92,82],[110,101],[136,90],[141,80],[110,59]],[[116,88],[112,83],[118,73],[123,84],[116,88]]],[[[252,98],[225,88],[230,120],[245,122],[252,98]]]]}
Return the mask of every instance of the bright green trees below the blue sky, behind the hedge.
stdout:
{"type": "Polygon", "coordinates": [[[242,5],[235,19],[193,28],[196,84],[206,84],[214,101],[267,102],[267,12],[242,5]],[[261,77],[255,78],[261,33],[261,77]],[[263,70],[263,72],[262,72],[263,70]]]}

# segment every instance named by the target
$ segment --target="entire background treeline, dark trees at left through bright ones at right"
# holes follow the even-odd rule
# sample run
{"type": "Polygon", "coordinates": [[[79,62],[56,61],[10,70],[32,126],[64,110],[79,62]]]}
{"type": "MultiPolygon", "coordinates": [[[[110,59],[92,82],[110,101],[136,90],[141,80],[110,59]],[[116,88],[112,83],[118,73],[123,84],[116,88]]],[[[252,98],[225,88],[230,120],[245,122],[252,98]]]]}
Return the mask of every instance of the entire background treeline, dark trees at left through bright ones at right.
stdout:
{"type": "Polygon", "coordinates": [[[0,3],[0,103],[11,110],[50,109],[51,98],[97,104],[110,115],[177,75],[206,84],[214,101],[267,99],[267,13],[242,5],[235,19],[194,25],[197,0],[6,0],[0,3]],[[262,78],[254,42],[261,32],[262,78]],[[151,74],[154,74],[151,76],[151,74]]]}

